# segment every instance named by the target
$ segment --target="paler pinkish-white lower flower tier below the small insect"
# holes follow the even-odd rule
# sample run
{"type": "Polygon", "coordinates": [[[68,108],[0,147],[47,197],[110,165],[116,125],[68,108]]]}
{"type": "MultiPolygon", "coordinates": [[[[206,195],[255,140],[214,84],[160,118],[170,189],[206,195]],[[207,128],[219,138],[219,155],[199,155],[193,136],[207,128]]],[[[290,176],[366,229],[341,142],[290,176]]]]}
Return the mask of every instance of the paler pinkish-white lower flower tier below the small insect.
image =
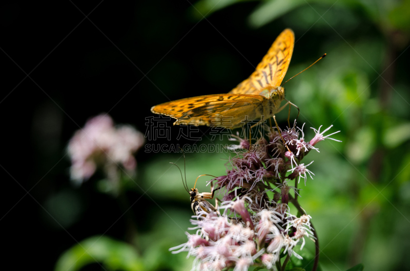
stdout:
{"type": "Polygon", "coordinates": [[[188,252],[195,256],[193,269],[221,270],[234,267],[234,270],[248,270],[249,266],[260,259],[266,268],[271,269],[283,253],[301,259],[294,248],[305,243],[304,237],[312,238],[310,216],[296,217],[289,214],[288,205],[261,209],[253,216],[245,208],[251,204],[250,198],[224,201],[219,212],[202,212],[191,223],[196,227],[196,234],[188,235],[188,242],[170,250],[173,253],[188,252]],[[235,218],[228,211],[239,214],[235,218]]]}

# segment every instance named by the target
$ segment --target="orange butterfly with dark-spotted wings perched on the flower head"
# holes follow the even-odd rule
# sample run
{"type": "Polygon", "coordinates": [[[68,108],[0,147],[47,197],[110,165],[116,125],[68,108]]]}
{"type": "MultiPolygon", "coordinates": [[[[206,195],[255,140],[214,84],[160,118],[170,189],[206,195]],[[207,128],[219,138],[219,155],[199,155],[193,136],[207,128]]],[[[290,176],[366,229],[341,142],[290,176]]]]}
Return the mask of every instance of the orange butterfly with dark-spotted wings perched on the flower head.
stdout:
{"type": "MultiPolygon", "coordinates": [[[[155,114],[175,118],[174,125],[192,124],[224,128],[241,127],[254,119],[274,117],[290,102],[280,86],[291,61],[295,35],[285,29],[273,42],[268,53],[251,76],[228,94],[211,94],[155,105],[155,114]]],[[[275,120],[276,121],[276,120],[275,120]]]]}

